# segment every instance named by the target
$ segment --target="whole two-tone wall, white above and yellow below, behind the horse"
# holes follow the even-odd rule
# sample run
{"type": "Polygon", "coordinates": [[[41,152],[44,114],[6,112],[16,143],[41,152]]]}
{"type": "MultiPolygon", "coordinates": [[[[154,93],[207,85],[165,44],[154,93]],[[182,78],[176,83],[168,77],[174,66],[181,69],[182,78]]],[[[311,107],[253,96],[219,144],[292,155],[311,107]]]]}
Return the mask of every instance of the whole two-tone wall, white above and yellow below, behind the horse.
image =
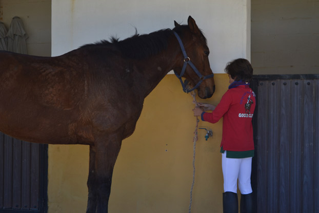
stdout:
{"type": "MultiPolygon", "coordinates": [[[[226,63],[250,57],[250,0],[216,1],[52,1],[52,56],[116,35],[173,28],[191,15],[210,47],[213,72],[226,63]]],[[[216,74],[216,92],[206,102],[217,104],[228,87],[227,74],[216,74]]],[[[200,100],[198,100],[200,101],[200,100]]],[[[136,130],[124,140],[113,173],[110,212],[186,212],[192,182],[192,97],[174,75],[167,75],[146,98],[136,130]]],[[[223,177],[220,141],[222,121],[201,122],[211,128],[196,146],[192,212],[222,212],[223,177]]],[[[49,146],[49,213],[85,212],[88,147],[49,146]]]]}

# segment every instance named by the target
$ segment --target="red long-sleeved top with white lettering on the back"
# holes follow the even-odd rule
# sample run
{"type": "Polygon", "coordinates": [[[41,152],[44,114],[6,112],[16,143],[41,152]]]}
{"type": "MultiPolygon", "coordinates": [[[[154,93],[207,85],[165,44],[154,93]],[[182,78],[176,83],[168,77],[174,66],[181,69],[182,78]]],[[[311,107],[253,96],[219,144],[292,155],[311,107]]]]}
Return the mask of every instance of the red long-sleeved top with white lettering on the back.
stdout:
{"type": "Polygon", "coordinates": [[[252,116],[256,106],[255,93],[248,85],[228,89],[221,102],[211,112],[203,112],[202,120],[216,123],[222,117],[223,137],[221,147],[228,151],[254,149],[252,116]]]}

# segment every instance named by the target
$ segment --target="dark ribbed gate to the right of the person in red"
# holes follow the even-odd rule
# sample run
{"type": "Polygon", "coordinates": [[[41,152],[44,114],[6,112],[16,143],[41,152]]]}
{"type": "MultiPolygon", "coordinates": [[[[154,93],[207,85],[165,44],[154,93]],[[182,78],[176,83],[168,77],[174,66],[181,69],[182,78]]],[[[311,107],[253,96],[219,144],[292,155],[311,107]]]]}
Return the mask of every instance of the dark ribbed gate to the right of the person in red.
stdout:
{"type": "Polygon", "coordinates": [[[319,75],[256,75],[258,213],[319,212],[319,75]]]}

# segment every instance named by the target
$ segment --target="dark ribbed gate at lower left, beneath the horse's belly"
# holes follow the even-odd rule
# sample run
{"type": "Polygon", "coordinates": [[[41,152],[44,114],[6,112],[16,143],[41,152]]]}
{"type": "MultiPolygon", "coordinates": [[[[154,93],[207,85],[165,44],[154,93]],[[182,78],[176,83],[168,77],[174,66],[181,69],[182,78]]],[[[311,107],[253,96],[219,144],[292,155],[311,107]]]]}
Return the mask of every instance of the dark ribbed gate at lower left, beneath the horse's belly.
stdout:
{"type": "Polygon", "coordinates": [[[0,132],[0,212],[47,212],[47,148],[0,132]]]}

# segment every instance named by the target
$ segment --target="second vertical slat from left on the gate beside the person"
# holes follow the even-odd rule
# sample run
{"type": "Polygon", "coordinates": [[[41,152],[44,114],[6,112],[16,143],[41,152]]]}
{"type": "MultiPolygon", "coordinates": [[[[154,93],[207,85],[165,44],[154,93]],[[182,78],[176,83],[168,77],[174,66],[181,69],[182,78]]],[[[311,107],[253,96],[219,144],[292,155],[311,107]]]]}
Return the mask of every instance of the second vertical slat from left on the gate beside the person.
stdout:
{"type": "Polygon", "coordinates": [[[269,187],[268,199],[269,199],[269,212],[278,212],[278,114],[280,100],[278,81],[271,81],[269,85],[269,153],[268,153],[268,184],[269,187]]]}

